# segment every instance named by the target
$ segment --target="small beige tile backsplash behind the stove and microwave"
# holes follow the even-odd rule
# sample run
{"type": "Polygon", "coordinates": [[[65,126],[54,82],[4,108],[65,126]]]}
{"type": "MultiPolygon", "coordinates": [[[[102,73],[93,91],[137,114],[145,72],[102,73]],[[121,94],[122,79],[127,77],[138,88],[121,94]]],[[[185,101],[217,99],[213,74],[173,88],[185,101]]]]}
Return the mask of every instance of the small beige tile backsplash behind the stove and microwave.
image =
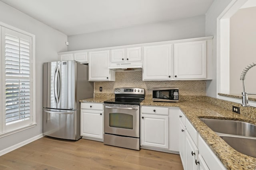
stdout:
{"type": "Polygon", "coordinates": [[[116,81],[94,84],[95,93],[113,94],[114,88],[119,87],[144,88],[146,95],[152,94],[153,87],[175,87],[183,96],[206,96],[206,80],[142,81],[142,71],[116,72],[116,81]]]}

